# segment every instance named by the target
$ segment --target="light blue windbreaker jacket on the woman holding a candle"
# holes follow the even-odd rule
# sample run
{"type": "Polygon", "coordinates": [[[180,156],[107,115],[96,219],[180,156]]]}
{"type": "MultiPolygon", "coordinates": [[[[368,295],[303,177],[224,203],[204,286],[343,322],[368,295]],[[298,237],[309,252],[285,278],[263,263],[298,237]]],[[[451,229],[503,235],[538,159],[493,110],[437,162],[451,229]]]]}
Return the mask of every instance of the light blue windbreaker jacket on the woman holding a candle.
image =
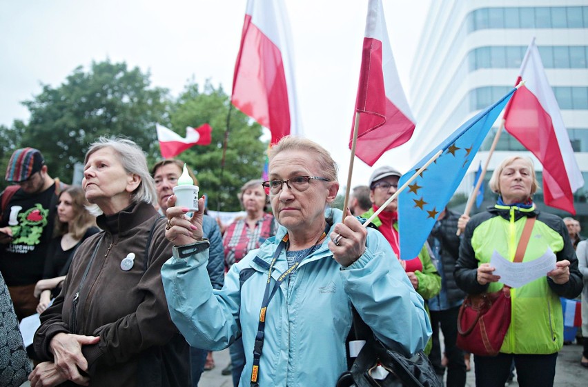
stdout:
{"type": "MultiPolygon", "coordinates": [[[[335,224],[342,212],[329,209],[325,215],[335,224]]],[[[208,250],[181,259],[174,248],[174,256],[161,268],[170,315],[191,346],[221,350],[242,335],[246,355],[242,386],[251,379],[268,268],[285,234],[286,228],[280,226],[275,238],[233,265],[221,290],[210,286],[208,250]]],[[[364,255],[346,268],[333,259],[328,242],[327,237],[302,261],[268,305],[260,386],[335,386],[346,370],[351,304],[384,344],[395,342],[415,353],[429,340],[431,324],[422,297],[380,232],[368,230],[364,255]]],[[[272,270],[272,288],[286,270],[283,251],[272,270]]]]}

